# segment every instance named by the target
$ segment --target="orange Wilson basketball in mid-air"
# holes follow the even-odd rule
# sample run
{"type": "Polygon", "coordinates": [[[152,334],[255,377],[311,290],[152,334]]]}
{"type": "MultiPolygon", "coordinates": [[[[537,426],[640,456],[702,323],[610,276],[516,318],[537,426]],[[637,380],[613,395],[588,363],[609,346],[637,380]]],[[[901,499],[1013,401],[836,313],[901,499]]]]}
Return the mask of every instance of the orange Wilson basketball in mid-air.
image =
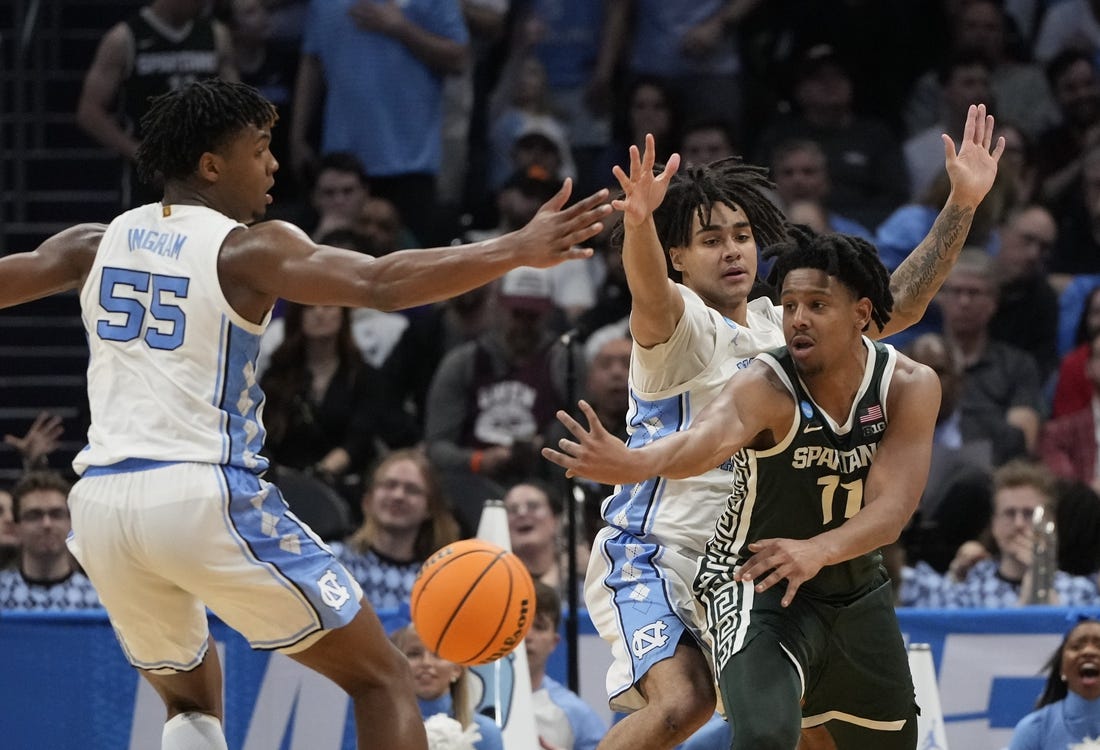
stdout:
{"type": "Polygon", "coordinates": [[[431,651],[457,664],[486,664],[524,640],[535,617],[535,584],[512,552],[463,539],[428,558],[409,609],[431,651]]]}

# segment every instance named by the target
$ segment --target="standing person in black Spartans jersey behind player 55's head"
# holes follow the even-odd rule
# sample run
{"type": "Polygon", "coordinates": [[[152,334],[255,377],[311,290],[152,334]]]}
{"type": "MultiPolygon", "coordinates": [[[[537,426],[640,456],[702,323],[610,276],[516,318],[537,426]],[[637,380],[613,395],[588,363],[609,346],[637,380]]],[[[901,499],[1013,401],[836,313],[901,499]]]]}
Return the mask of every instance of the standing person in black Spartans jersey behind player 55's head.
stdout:
{"type": "Polygon", "coordinates": [[[123,158],[122,206],[156,202],[161,192],[132,168],[148,98],[199,78],[238,80],[229,31],[206,18],[207,0],[152,0],[99,41],[76,121],[123,158]]]}

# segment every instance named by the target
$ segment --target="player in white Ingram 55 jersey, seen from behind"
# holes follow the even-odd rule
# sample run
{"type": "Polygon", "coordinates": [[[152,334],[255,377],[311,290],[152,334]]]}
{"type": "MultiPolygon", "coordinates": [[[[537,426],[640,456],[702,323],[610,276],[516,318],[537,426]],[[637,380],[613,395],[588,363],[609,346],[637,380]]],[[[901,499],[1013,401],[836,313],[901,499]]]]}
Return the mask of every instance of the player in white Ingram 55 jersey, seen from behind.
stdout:
{"type": "Polygon", "coordinates": [[[610,208],[603,191],[564,208],[566,183],[496,240],[382,258],[319,246],[284,222],[246,225],[271,202],[275,119],[255,89],[219,79],[156,98],[139,164],[163,177],[163,200],[0,258],[0,307],[79,290],[91,427],[73,464],[69,544],[164,699],[162,747],[226,748],[209,607],[254,648],[344,688],[360,748],[426,750],[404,657],[261,478],[260,337],[279,297],[393,310],[586,256],[576,245],[610,208]]]}

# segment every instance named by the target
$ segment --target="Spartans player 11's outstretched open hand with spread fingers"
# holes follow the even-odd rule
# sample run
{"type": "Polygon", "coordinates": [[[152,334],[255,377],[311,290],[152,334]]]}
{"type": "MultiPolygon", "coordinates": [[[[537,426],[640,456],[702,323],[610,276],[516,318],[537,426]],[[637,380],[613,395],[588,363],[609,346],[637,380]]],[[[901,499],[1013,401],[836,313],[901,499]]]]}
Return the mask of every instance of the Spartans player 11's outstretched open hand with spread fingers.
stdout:
{"type": "Polygon", "coordinates": [[[600,423],[600,418],[587,401],[579,401],[581,412],[588,421],[585,428],[565,411],[558,412],[558,421],[565,426],[576,440],[562,438],[558,448],[543,448],[542,456],[562,466],[565,476],[583,476],[601,484],[641,482],[650,474],[640,464],[634,451],[600,423]]]}

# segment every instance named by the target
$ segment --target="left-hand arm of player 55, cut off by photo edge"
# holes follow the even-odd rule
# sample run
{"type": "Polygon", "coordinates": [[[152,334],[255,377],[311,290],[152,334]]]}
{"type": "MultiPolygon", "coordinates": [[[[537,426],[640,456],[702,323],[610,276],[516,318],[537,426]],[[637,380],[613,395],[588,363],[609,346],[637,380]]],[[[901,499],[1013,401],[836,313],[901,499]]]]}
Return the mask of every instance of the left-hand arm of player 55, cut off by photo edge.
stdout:
{"type": "Polygon", "coordinates": [[[79,288],[106,229],[103,224],[78,224],[29,253],[0,257],[0,308],[79,288]]]}

